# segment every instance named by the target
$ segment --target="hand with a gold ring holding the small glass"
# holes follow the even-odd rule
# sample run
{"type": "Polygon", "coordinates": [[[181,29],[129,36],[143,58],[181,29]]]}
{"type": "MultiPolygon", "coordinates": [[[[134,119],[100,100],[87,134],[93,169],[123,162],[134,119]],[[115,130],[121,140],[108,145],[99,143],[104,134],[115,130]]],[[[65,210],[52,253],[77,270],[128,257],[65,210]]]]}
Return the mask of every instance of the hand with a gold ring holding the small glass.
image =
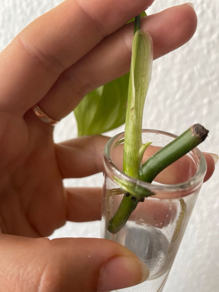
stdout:
{"type": "MultiPolygon", "coordinates": [[[[30,109],[38,104],[59,120],[87,92],[127,73],[133,24],[125,23],[151,2],[67,0],[26,27],[0,54],[2,291],[104,291],[148,277],[147,267],[115,242],[42,238],[66,220],[100,218],[101,190],[65,189],[62,179],[102,171],[108,138],[54,144],[52,127],[30,109]]],[[[157,58],[190,39],[196,15],[191,6],[181,5],[142,23],[157,58]]],[[[209,177],[214,161],[206,158],[209,177]]]]}

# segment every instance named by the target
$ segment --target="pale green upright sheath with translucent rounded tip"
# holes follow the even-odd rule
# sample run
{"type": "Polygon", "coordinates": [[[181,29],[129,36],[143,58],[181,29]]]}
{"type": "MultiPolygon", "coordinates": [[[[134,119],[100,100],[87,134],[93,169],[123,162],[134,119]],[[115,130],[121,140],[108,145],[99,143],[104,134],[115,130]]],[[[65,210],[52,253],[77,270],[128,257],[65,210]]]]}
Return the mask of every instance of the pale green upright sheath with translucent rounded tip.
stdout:
{"type": "Polygon", "coordinates": [[[123,151],[123,172],[136,179],[140,176],[142,118],[144,102],[151,81],[152,62],[151,36],[144,30],[137,30],[132,45],[123,151]]]}

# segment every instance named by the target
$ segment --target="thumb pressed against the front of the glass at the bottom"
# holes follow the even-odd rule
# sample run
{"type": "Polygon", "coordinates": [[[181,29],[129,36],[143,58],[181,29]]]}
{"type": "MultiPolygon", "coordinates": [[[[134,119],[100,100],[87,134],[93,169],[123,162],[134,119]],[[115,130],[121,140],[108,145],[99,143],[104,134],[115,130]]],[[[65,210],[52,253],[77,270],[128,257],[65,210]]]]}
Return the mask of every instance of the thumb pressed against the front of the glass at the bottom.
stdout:
{"type": "Polygon", "coordinates": [[[122,245],[98,238],[0,237],[3,291],[96,292],[142,283],[148,267],[122,245]]]}

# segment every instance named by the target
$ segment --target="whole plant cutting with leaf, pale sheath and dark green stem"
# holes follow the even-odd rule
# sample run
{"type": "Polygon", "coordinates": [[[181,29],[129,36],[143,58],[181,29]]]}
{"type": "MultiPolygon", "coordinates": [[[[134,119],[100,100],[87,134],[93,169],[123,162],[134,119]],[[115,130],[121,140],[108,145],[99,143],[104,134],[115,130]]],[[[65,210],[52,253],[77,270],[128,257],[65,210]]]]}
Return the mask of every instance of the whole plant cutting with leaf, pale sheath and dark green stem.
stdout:
{"type": "MultiPolygon", "coordinates": [[[[75,109],[75,116],[78,122],[79,136],[99,134],[111,130],[125,120],[123,172],[135,179],[151,183],[163,169],[204,141],[208,130],[200,124],[193,125],[142,165],[144,151],[153,143],[149,141],[142,144],[141,138],[143,108],[151,80],[153,62],[151,36],[141,30],[141,17],[144,16],[146,16],[145,12],[130,20],[130,22],[134,21],[130,73],[85,96],[75,109]],[[121,92],[116,92],[116,89],[121,90],[121,92]],[[123,89],[125,90],[123,91],[123,89]],[[123,95],[121,96],[121,94],[123,95]],[[110,100],[110,103],[112,102],[112,97],[116,103],[119,103],[119,106],[121,106],[120,103],[123,103],[117,115],[112,109],[114,104],[109,107],[108,104],[106,105],[107,100],[108,102],[110,100]],[[127,106],[126,111],[123,110],[124,104],[127,106]],[[104,110],[111,111],[111,113],[105,115],[104,110]],[[126,112],[125,119],[124,112],[126,112]],[[84,113],[89,116],[90,122],[84,119],[84,113]],[[111,123],[109,123],[109,120],[111,123]]],[[[127,193],[124,195],[116,214],[109,222],[108,230],[112,233],[118,232],[124,226],[132,211],[139,202],[144,200],[144,197],[154,195],[150,191],[145,192],[144,190],[144,193],[142,193],[139,190],[133,190],[130,186],[124,185],[122,180],[117,182],[123,189],[127,190],[127,193]]]]}

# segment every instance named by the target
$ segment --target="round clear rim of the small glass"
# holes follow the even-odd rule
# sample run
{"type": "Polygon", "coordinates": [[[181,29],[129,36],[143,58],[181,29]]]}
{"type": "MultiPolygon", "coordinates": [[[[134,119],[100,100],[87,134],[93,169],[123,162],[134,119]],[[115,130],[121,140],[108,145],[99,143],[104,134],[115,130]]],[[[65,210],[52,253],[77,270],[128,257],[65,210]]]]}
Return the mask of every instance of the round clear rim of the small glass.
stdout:
{"type": "MultiPolygon", "coordinates": [[[[119,134],[116,134],[113,136],[107,143],[104,148],[104,168],[108,170],[111,175],[116,176],[117,178],[123,179],[125,181],[131,182],[136,186],[141,186],[143,188],[147,188],[153,191],[162,191],[162,192],[184,192],[187,191],[188,189],[193,189],[197,188],[199,185],[203,183],[203,178],[206,173],[207,169],[207,164],[206,160],[202,154],[202,152],[196,147],[193,150],[189,151],[189,154],[192,157],[196,157],[198,159],[199,165],[198,169],[196,171],[196,174],[191,177],[190,179],[184,181],[184,182],[179,182],[176,184],[161,184],[161,185],[155,185],[151,184],[148,182],[141,181],[139,179],[135,179],[133,177],[127,176],[123,172],[121,172],[116,165],[114,164],[113,160],[111,159],[111,150],[116,147],[116,142],[122,141],[124,138],[124,133],[121,132],[119,134]],[[113,147],[114,146],[114,147],[113,147]]],[[[142,133],[155,133],[155,134],[163,134],[172,138],[178,137],[175,134],[161,131],[161,130],[155,130],[155,129],[142,129],[142,133]]],[[[112,176],[112,177],[113,177],[112,176]]],[[[114,180],[114,179],[113,179],[114,180]]],[[[115,180],[114,180],[115,181],[115,180]]],[[[115,181],[116,182],[116,181],[115,181]]],[[[189,195],[188,195],[189,196],[189,195]]]]}

